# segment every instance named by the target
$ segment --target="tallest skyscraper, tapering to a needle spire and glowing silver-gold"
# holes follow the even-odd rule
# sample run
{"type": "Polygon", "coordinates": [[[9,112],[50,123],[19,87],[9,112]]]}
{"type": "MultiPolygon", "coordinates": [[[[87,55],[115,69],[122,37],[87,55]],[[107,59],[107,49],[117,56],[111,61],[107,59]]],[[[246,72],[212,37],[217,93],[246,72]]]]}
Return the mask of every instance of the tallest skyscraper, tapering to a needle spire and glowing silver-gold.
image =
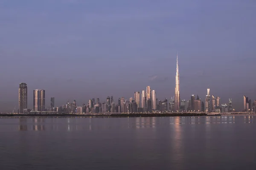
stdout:
{"type": "Polygon", "coordinates": [[[177,53],[177,63],[176,63],[176,76],[175,76],[175,112],[180,111],[180,74],[178,65],[178,53],[177,53]]]}

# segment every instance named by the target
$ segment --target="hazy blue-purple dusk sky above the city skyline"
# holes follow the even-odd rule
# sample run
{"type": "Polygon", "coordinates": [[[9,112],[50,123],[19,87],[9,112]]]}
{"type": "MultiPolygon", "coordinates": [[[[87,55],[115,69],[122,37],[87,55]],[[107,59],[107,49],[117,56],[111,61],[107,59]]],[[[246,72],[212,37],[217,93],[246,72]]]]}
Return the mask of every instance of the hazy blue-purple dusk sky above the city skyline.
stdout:
{"type": "Polygon", "coordinates": [[[207,88],[221,103],[256,99],[255,0],[0,0],[0,112],[18,108],[20,82],[55,106],[76,99],[157,99],[207,88]]]}

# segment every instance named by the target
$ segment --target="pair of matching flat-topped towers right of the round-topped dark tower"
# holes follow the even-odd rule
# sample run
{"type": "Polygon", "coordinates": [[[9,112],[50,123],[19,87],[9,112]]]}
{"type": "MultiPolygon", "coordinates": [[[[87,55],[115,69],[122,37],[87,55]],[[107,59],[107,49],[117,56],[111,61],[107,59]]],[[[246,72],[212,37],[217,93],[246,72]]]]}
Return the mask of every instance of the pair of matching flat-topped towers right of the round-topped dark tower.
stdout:
{"type": "Polygon", "coordinates": [[[34,90],[34,111],[45,111],[45,90],[34,90]]]}

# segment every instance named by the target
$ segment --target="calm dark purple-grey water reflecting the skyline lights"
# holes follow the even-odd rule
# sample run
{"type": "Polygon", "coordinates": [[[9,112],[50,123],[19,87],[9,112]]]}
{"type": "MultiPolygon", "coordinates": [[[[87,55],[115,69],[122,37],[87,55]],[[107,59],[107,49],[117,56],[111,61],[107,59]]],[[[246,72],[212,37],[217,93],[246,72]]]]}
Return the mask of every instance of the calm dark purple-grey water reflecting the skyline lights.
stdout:
{"type": "Polygon", "coordinates": [[[255,116],[0,119],[2,170],[254,170],[255,116]]]}

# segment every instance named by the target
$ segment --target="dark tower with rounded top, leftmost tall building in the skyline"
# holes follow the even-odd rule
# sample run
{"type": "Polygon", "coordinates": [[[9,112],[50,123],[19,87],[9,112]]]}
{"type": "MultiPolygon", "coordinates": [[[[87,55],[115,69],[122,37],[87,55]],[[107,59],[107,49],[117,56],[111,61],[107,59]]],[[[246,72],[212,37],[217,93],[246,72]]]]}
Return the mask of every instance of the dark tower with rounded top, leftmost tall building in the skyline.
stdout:
{"type": "Polygon", "coordinates": [[[20,83],[19,87],[19,113],[28,108],[28,88],[26,83],[20,83]]]}

